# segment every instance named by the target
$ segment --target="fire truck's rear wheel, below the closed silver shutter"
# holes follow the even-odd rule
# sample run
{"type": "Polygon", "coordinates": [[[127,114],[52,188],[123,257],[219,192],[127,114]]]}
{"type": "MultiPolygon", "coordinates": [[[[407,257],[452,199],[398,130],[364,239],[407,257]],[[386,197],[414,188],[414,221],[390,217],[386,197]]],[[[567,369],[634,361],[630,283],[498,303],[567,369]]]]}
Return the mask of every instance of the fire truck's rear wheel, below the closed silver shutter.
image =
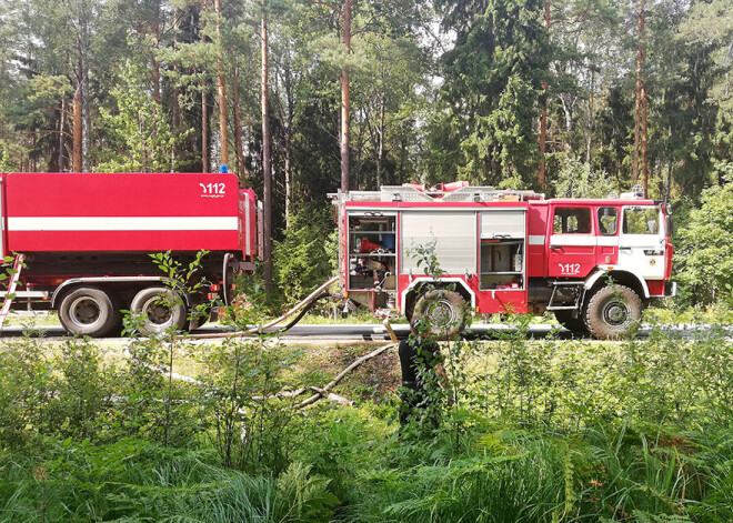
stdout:
{"type": "Polygon", "coordinates": [[[410,326],[438,340],[455,338],[465,328],[465,300],[454,291],[430,291],[415,304],[410,326]]]}

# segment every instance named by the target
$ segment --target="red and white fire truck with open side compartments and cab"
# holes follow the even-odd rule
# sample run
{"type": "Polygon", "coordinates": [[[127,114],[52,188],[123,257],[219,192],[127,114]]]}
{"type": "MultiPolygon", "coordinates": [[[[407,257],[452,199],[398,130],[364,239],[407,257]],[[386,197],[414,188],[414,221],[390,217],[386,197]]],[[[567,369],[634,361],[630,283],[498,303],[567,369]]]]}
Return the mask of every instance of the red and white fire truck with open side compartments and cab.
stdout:
{"type": "Polygon", "coordinates": [[[612,339],[675,291],[670,205],[632,193],[545,200],[455,182],[340,192],[333,203],[347,296],[412,323],[428,315],[439,333],[460,331],[470,308],[552,311],[571,331],[612,339]]]}

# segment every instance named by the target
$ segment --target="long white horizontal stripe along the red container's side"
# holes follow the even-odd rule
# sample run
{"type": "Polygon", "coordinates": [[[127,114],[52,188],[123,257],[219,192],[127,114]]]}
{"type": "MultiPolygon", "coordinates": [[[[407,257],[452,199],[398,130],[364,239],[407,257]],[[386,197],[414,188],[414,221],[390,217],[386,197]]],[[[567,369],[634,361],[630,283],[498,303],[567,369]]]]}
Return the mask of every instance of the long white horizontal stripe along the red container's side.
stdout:
{"type": "Polygon", "coordinates": [[[8,217],[8,231],[238,231],[237,217],[8,217]]]}

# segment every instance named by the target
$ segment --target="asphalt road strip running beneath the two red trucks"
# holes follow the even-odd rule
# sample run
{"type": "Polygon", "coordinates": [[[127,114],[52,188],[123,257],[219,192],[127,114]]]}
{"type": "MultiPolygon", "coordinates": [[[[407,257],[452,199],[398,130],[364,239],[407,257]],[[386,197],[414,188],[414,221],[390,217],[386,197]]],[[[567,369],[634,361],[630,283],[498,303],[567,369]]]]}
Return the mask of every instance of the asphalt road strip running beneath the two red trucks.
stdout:
{"type": "MultiPolygon", "coordinates": [[[[36,326],[31,335],[42,336],[48,339],[62,339],[66,336],[63,329],[59,325],[50,326],[36,326]]],[[[392,325],[399,339],[406,338],[410,334],[406,324],[392,325]]],[[[666,325],[665,330],[694,332],[707,329],[707,325],[691,325],[691,324],[675,324],[666,325]]],[[[516,326],[511,324],[491,323],[491,324],[474,324],[464,333],[466,339],[483,339],[495,340],[501,339],[508,332],[515,331],[516,326]]],[[[218,325],[204,325],[192,334],[212,334],[227,332],[224,328],[218,325]]],[[[556,332],[560,339],[572,339],[573,334],[560,328],[559,325],[550,324],[530,324],[528,335],[530,338],[545,338],[551,333],[556,332]]],[[[639,336],[649,336],[650,329],[642,328],[639,336]]],[[[20,325],[8,325],[3,328],[1,338],[10,339],[23,334],[23,328],[20,325]]],[[[282,334],[285,340],[308,340],[308,341],[384,341],[390,336],[381,323],[375,324],[333,324],[333,325],[295,325],[290,331],[282,334]]],[[[117,340],[120,340],[119,338],[117,340]]]]}

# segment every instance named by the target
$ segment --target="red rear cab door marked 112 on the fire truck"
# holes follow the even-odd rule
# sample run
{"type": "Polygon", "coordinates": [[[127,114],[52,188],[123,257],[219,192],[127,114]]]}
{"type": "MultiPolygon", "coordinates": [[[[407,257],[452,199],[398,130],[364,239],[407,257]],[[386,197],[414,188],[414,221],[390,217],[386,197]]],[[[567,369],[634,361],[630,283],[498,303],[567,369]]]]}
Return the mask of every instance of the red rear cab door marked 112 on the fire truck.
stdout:
{"type": "Polygon", "coordinates": [[[554,203],[548,223],[548,275],[585,278],[595,266],[598,239],[590,205],[554,203]]]}

